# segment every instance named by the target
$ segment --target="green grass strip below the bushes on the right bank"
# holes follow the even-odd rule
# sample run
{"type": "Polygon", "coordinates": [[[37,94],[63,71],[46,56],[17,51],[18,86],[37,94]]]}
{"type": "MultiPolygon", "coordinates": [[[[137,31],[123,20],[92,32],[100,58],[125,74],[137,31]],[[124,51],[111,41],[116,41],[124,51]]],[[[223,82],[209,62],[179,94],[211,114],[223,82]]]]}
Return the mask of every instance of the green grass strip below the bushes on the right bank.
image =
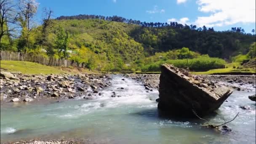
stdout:
{"type": "Polygon", "coordinates": [[[194,75],[211,75],[213,73],[226,73],[226,72],[252,72],[255,73],[255,69],[251,68],[243,68],[243,69],[237,69],[237,67],[241,67],[241,64],[239,62],[234,62],[230,64],[226,64],[225,69],[211,69],[206,72],[191,72],[191,74],[194,75]],[[233,68],[236,67],[236,68],[233,68]]]}

